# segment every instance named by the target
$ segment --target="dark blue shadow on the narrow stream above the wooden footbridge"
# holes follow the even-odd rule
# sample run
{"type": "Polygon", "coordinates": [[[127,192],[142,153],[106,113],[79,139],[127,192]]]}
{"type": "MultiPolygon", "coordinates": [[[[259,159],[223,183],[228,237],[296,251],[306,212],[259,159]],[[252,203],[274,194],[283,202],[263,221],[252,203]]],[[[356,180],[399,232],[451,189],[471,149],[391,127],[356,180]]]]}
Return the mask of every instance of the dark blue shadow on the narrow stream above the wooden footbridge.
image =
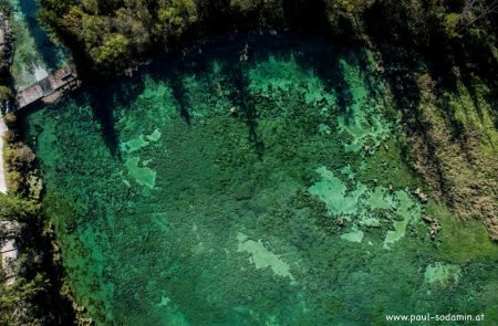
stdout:
{"type": "Polygon", "coordinates": [[[19,3],[19,10],[25,17],[25,24],[34,40],[37,52],[42,56],[41,59],[49,70],[56,70],[61,64],[61,54],[68,50],[55,45],[50,40],[49,34],[41,28],[37,19],[39,9],[37,0],[18,0],[17,2],[19,3]]]}

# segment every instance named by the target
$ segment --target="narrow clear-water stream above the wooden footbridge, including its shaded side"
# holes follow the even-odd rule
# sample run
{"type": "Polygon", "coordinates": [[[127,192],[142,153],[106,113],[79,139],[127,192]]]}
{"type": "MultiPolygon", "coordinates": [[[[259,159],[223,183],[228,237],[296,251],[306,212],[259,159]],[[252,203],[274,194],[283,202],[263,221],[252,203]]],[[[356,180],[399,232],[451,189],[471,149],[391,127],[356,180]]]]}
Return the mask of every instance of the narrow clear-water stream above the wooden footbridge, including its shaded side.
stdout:
{"type": "Polygon", "coordinates": [[[37,20],[37,0],[9,0],[15,35],[11,67],[14,87],[22,90],[68,63],[68,49],[54,44],[37,20]]]}

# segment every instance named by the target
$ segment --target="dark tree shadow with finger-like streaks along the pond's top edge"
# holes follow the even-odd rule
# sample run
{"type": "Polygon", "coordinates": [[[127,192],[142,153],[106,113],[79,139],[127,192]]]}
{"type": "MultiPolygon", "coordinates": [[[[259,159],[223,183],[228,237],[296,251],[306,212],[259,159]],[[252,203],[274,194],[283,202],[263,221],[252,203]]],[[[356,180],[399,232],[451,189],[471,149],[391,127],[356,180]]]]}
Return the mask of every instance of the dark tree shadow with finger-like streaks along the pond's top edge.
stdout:
{"type": "Polygon", "coordinates": [[[129,101],[136,98],[144,91],[144,75],[158,82],[167,82],[177,103],[179,116],[187,125],[190,125],[194,117],[190,112],[189,91],[184,84],[183,76],[186,73],[194,73],[198,77],[203,77],[209,73],[210,62],[221,61],[224,63],[221,73],[226,76],[231,90],[228,98],[238,109],[238,117],[246,123],[249,140],[261,158],[264,154],[264,144],[258,135],[258,106],[250,92],[248,76],[248,71],[253,63],[268,61],[270,57],[278,61],[294,60],[300,69],[312,71],[321,80],[325,92],[336,94],[338,114],[345,117],[345,123],[354,120],[353,95],[351,85],[347,84],[344,76],[341,60],[354,65],[357,64],[359,59],[347,52],[347,48],[341,44],[331,46],[331,42],[323,41],[323,36],[289,34],[283,36],[239,36],[229,44],[215,42],[207,45],[203,54],[181,56],[179,53],[173,53],[159,56],[151,66],[131,80],[121,77],[112,83],[93,83],[82,90],[84,94],[76,96],[76,101],[80,102],[79,105],[85,105],[87,102],[92,107],[110,153],[120,158],[120,135],[115,127],[114,111],[120,106],[127,107],[129,101]],[[249,44],[249,60],[240,61],[240,51],[245,49],[246,44],[249,44]]]}

